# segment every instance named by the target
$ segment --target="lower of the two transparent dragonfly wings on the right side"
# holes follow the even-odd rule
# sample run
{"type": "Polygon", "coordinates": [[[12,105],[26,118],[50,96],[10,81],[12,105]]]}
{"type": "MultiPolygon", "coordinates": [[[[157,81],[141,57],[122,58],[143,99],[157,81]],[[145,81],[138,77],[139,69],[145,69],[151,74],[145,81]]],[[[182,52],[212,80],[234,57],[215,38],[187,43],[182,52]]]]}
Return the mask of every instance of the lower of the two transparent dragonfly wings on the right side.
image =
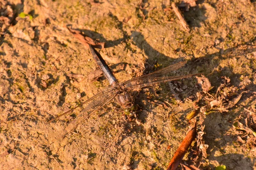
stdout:
{"type": "Polygon", "coordinates": [[[188,74],[188,75],[183,75],[183,76],[173,76],[173,77],[148,77],[146,79],[140,79],[140,81],[131,81],[127,84],[125,84],[125,89],[127,90],[133,90],[133,89],[137,89],[137,88],[144,88],[147,87],[149,85],[155,85],[161,82],[170,82],[173,80],[177,80],[177,79],[184,79],[184,78],[189,78],[192,76],[195,76],[198,74],[188,74]]]}

